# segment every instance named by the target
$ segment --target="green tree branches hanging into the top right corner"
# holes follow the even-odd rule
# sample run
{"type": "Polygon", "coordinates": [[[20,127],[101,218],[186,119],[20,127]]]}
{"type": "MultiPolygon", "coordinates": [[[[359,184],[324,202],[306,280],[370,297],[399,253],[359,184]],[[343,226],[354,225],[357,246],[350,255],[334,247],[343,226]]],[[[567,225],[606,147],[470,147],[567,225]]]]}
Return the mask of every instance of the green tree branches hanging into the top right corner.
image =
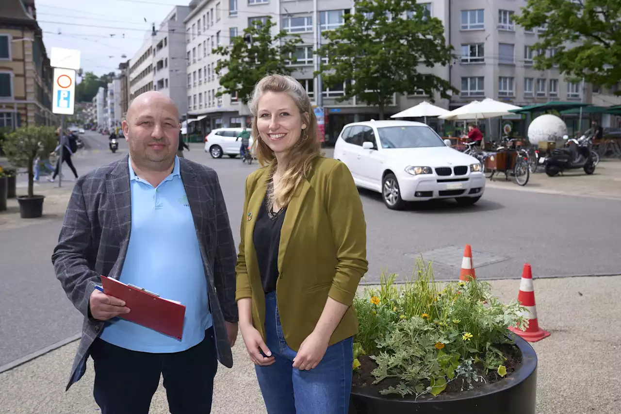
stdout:
{"type": "Polygon", "coordinates": [[[574,81],[610,87],[621,82],[621,1],[528,0],[515,22],[525,29],[544,27],[533,50],[535,68],[558,65],[574,81]]]}

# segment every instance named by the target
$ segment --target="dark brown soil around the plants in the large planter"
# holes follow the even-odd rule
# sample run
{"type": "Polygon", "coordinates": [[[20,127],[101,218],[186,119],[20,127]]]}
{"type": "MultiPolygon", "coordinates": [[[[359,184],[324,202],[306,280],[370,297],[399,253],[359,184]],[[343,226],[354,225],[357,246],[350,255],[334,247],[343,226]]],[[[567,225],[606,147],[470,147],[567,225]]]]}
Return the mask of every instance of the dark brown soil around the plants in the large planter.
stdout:
{"type": "MultiPolygon", "coordinates": [[[[507,375],[509,375],[514,372],[522,363],[522,353],[520,352],[520,349],[515,345],[501,344],[497,345],[497,347],[507,358],[507,361],[504,362],[504,366],[507,367],[507,375]]],[[[379,394],[379,391],[381,390],[388,389],[388,387],[391,386],[396,387],[397,385],[399,385],[399,379],[397,378],[387,378],[379,384],[373,384],[375,377],[373,376],[373,374],[371,374],[371,372],[373,372],[373,370],[378,367],[378,364],[376,364],[373,359],[366,355],[361,355],[360,357],[358,357],[358,361],[360,362],[360,367],[358,367],[358,369],[353,372],[352,385],[354,387],[365,387],[367,389],[374,390],[379,394]]],[[[498,375],[496,370],[489,370],[489,372],[487,372],[486,374],[485,369],[480,362],[478,364],[475,364],[474,367],[476,368],[478,374],[485,379],[485,381],[473,381],[471,384],[475,389],[478,387],[482,387],[485,384],[496,382],[503,378],[498,375]]],[[[507,375],[505,375],[505,377],[507,375]]],[[[425,387],[427,387],[428,385],[429,384],[425,384],[425,387]]],[[[462,382],[460,379],[453,380],[449,382],[448,385],[446,385],[446,389],[442,392],[442,394],[460,393],[462,392],[461,386],[462,382]]],[[[464,382],[464,391],[467,389],[468,384],[464,382]]],[[[399,394],[388,394],[387,396],[389,395],[394,395],[397,398],[401,398],[401,395],[399,394]]],[[[405,398],[414,398],[414,396],[406,396],[405,398]]]]}

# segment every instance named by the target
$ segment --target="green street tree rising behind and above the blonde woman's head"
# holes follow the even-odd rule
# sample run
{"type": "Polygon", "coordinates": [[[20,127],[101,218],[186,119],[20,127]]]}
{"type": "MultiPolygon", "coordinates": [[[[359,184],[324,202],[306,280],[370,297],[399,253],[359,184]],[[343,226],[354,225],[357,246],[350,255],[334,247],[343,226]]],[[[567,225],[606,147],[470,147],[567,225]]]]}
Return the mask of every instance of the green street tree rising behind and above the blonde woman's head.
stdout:
{"type": "Polygon", "coordinates": [[[272,35],[271,28],[275,25],[270,19],[266,24],[255,21],[243,30],[243,36],[232,39],[232,45],[213,50],[213,53],[228,57],[219,60],[215,67],[218,75],[227,70],[220,78],[223,90],[215,96],[237,93],[242,103],[247,104],[256,83],[266,74],[291,75],[292,68],[287,63],[288,60],[295,61],[291,55],[302,39],[284,30],[272,35]]]}

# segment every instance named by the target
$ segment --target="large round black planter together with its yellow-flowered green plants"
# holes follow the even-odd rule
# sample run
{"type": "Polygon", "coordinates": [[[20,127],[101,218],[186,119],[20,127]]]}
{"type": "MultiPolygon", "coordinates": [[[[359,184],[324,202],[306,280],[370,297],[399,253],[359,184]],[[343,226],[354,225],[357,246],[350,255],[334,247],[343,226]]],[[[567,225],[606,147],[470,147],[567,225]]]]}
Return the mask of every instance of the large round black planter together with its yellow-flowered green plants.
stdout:
{"type": "Polygon", "coordinates": [[[354,300],[350,414],[535,414],[537,355],[507,329],[527,327],[525,308],[476,279],[440,286],[422,260],[396,277],[354,300]]]}

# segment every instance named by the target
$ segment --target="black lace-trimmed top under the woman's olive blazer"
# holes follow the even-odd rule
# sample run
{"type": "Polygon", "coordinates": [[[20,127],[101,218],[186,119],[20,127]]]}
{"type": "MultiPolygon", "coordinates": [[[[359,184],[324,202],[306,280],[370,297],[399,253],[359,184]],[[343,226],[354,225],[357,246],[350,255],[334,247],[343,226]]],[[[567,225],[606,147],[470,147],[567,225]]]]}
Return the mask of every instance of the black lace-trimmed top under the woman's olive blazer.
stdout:
{"type": "MultiPolygon", "coordinates": [[[[270,186],[271,181],[268,184],[268,193],[270,186]]],[[[273,211],[268,211],[266,200],[267,195],[263,199],[256,217],[252,241],[255,244],[256,261],[261,274],[263,292],[270,293],[276,290],[276,280],[278,280],[278,244],[280,243],[280,231],[283,228],[286,208],[281,208],[278,213],[273,213],[273,211]]]]}

